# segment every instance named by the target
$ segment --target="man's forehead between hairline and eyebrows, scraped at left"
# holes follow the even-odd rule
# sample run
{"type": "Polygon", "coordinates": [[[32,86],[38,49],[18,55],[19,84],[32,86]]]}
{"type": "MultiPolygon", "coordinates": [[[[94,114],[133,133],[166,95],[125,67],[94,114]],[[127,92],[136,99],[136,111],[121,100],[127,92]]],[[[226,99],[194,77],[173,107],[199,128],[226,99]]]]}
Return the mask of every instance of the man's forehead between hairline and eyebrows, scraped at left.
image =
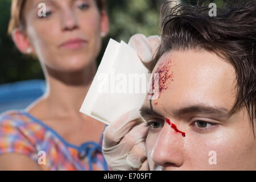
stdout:
{"type": "Polygon", "coordinates": [[[214,53],[170,51],[159,59],[152,73],[159,68],[170,68],[168,74],[172,76],[159,76],[159,82],[167,84],[166,89],[159,90],[159,98],[152,100],[153,107],[163,110],[163,105],[181,108],[203,104],[226,109],[233,106],[236,97],[234,68],[214,53]]]}

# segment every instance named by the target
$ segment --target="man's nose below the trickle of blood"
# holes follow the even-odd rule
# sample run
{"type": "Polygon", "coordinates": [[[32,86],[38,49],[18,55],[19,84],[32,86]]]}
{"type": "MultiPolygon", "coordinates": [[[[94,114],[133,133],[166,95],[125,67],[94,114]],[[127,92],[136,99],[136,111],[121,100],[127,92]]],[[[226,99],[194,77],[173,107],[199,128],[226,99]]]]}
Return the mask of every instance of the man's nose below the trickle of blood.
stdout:
{"type": "Polygon", "coordinates": [[[168,123],[158,135],[151,153],[151,159],[162,167],[180,167],[183,164],[184,137],[177,133],[168,123]]]}

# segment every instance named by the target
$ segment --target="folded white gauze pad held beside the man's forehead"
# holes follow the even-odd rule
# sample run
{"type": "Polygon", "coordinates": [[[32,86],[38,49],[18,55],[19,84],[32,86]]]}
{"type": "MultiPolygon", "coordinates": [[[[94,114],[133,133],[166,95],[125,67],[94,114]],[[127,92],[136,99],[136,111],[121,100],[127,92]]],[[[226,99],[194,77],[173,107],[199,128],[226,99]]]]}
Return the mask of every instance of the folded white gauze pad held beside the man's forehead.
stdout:
{"type": "Polygon", "coordinates": [[[133,48],[110,39],[80,112],[109,125],[139,110],[147,94],[147,73],[133,48]]]}

